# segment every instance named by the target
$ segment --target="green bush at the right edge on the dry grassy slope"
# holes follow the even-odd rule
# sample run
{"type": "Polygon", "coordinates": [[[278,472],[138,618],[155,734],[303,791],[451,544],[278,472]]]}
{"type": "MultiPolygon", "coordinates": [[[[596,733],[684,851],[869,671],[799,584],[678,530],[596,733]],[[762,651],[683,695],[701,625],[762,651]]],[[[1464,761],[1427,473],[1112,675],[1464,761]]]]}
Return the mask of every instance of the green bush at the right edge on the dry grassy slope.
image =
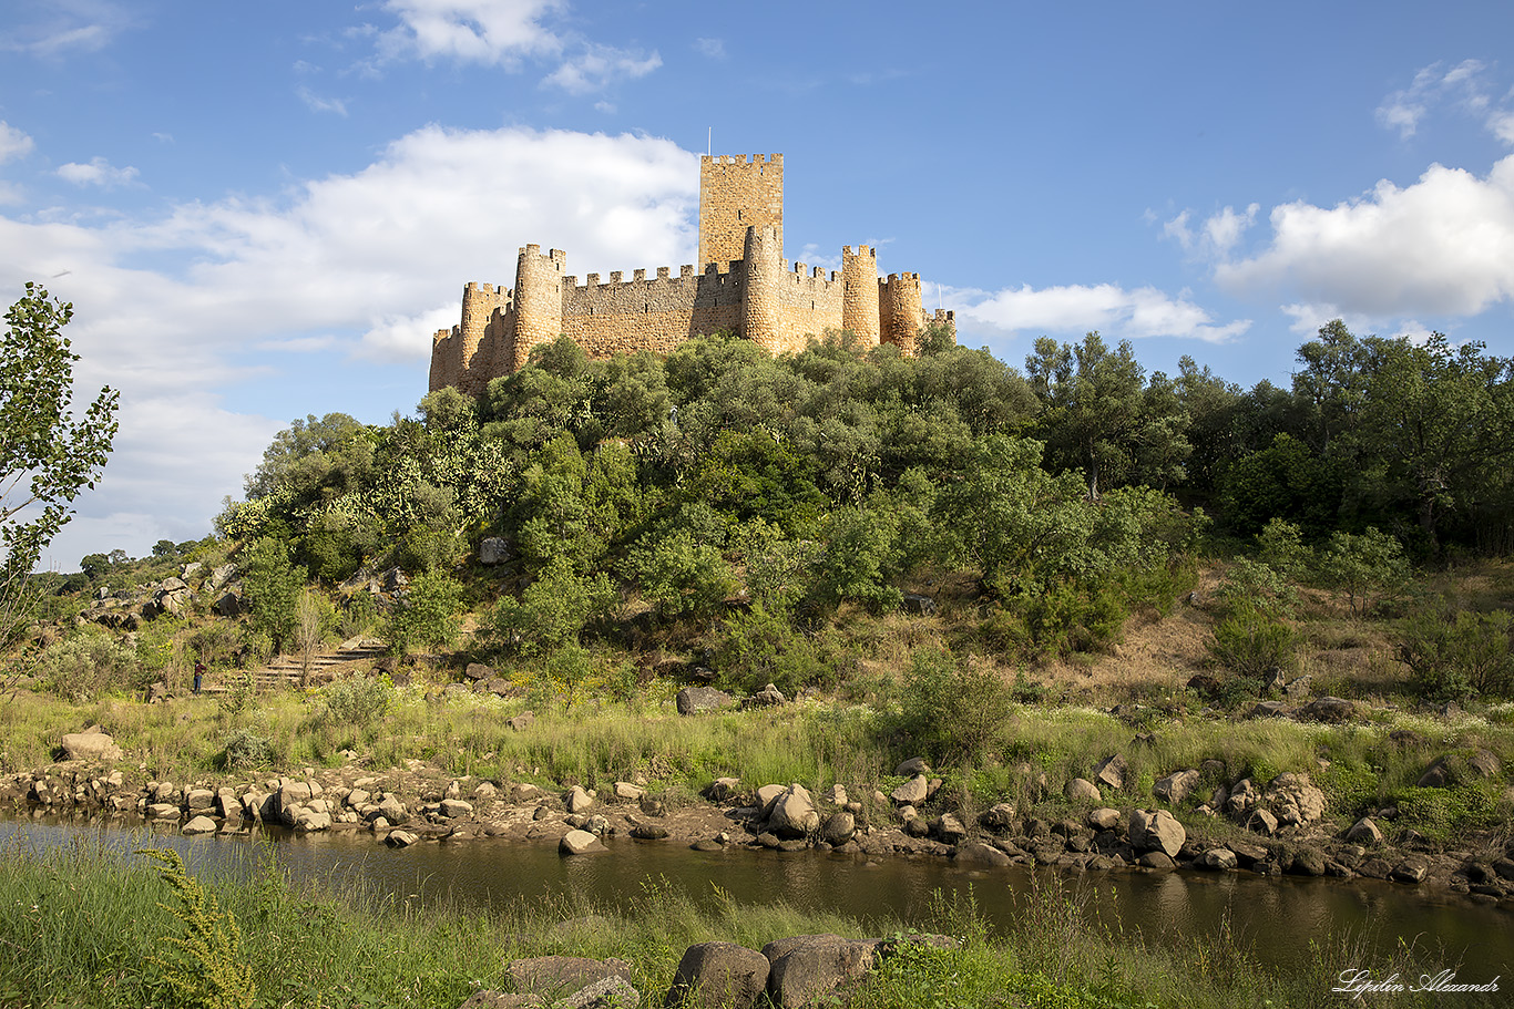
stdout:
{"type": "Polygon", "coordinates": [[[1416,614],[1400,625],[1399,658],[1431,700],[1514,697],[1514,614],[1416,614]]]}

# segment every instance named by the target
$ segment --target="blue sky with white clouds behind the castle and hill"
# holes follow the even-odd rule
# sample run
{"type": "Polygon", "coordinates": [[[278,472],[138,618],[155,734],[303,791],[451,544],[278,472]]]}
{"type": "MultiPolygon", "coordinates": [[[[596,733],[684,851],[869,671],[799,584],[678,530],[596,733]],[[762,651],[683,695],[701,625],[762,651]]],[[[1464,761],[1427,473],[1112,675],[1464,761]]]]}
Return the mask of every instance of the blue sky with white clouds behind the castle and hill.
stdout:
{"type": "Polygon", "coordinates": [[[1514,354],[1514,8],[9,0],[0,295],[121,390],[50,564],[209,532],[294,418],[382,424],[516,248],[692,263],[698,154],[786,159],[787,256],[878,247],[1043,334],[1287,381],[1319,325],[1514,354]]]}

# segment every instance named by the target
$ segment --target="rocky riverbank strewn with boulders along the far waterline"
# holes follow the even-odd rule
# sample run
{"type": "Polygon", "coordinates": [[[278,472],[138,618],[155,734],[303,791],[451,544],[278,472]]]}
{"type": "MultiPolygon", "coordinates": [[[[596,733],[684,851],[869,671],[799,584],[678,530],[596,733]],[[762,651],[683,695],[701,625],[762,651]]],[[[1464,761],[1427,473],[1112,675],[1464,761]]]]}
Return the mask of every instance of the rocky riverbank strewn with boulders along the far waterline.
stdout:
{"type": "MultiPolygon", "coordinates": [[[[1514,846],[1467,838],[1464,847],[1437,847],[1413,832],[1390,835],[1393,809],[1343,826],[1325,815],[1325,796],[1308,775],[1223,784],[1219,761],[1160,779],[1143,806],[1102,802],[1125,784],[1123,759],[1114,755],[1087,779],[1069,782],[1064,799],[1026,809],[999,802],[970,811],[948,802],[942,779],[919,758],[893,768],[904,782],[890,794],[849,794],[839,784],[816,794],[798,784],[721,778],[699,800],[669,803],[643,781],[615,782],[600,793],[578,785],[547,790],[453,778],[419,759],[382,771],[353,759],[338,768],[256,779],[151,781],[100,731],[64,737],[61,756],[0,779],[0,802],[23,812],[173,823],[186,835],[245,834],[260,826],[360,830],[389,847],[492,838],[556,843],[565,855],[590,855],[613,852],[618,840],[628,838],[704,852],[763,847],[934,856],[977,870],[1046,865],[1070,873],[1369,877],[1514,909],[1514,846]],[[1205,784],[1213,790],[1196,793],[1205,784]],[[1208,794],[1208,800],[1195,808],[1193,794],[1208,794]]],[[[1443,776],[1449,764],[1438,762],[1426,775],[1443,776]]]]}

